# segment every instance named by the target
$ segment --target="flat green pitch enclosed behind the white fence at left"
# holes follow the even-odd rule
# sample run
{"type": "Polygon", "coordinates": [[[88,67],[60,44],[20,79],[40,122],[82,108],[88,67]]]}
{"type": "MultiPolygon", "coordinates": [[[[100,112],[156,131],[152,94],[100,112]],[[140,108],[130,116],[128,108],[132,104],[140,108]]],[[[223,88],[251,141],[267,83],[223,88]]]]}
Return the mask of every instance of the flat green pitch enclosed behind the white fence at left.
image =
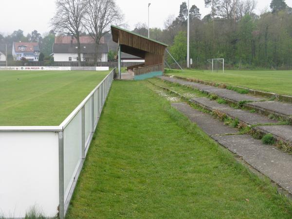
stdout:
{"type": "Polygon", "coordinates": [[[0,71],[0,126],[58,126],[108,73],[0,71]]]}

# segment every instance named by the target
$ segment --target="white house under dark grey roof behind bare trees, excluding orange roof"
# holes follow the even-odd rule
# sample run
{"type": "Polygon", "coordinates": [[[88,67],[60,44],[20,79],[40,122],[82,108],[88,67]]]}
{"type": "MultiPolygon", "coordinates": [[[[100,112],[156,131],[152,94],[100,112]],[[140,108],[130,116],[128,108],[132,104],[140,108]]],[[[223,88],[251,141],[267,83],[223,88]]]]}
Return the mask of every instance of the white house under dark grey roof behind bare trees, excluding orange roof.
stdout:
{"type": "MultiPolygon", "coordinates": [[[[81,61],[94,61],[94,43],[81,43],[81,61]]],[[[98,46],[98,61],[108,61],[109,46],[108,43],[101,43],[98,46]]],[[[76,43],[55,43],[53,54],[55,62],[78,61],[76,43]]]]}

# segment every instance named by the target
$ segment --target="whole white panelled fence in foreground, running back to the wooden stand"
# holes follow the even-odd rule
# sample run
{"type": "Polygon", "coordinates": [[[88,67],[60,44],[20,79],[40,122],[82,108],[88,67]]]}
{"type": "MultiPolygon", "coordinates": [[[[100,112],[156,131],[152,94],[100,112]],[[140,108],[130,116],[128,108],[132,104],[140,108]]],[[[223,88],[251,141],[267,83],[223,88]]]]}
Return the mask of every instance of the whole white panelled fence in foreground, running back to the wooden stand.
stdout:
{"type": "Polygon", "coordinates": [[[56,127],[0,127],[0,217],[63,219],[115,74],[56,127]]]}

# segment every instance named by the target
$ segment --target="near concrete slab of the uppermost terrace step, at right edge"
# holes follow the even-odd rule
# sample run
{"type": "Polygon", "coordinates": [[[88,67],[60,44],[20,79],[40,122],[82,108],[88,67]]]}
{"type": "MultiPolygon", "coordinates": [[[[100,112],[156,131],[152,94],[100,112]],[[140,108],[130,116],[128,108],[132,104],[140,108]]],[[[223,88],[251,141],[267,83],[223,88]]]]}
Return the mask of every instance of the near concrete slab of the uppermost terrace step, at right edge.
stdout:
{"type": "Polygon", "coordinates": [[[292,116],[292,104],[279,101],[264,101],[256,103],[246,103],[248,108],[254,108],[256,110],[265,111],[267,113],[279,114],[280,116],[290,117],[292,116]]]}

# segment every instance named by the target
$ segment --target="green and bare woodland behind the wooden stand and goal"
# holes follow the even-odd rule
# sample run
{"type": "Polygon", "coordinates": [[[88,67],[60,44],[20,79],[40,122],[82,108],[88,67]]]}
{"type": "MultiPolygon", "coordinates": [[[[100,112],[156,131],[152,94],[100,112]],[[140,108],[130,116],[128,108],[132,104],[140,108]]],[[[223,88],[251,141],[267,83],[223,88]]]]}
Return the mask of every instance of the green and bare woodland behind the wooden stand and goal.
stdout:
{"type": "MultiPolygon", "coordinates": [[[[255,13],[255,0],[205,0],[210,13],[190,8],[190,57],[204,68],[209,58],[225,58],[236,69],[288,69],[292,66],[292,9],[285,0],[272,0],[270,10],[255,13]]],[[[187,4],[178,17],[169,16],[164,28],[150,29],[150,37],[170,45],[170,53],[186,63],[187,4]]],[[[146,24],[134,32],[147,36],[146,24]]],[[[172,63],[171,58],[167,61],[172,63]]]]}

